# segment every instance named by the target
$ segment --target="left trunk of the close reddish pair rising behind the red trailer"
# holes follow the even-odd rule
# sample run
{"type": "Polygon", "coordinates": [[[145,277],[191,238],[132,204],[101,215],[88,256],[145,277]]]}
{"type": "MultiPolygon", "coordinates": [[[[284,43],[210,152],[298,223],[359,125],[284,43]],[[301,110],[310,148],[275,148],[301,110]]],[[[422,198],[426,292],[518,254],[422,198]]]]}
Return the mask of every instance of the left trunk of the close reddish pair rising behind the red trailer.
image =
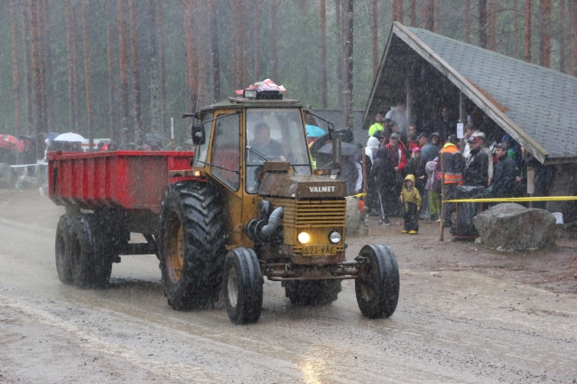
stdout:
{"type": "Polygon", "coordinates": [[[120,137],[121,145],[128,148],[129,132],[129,100],[128,100],[128,41],[126,29],[125,0],[116,0],[118,18],[118,64],[120,67],[120,137]]]}

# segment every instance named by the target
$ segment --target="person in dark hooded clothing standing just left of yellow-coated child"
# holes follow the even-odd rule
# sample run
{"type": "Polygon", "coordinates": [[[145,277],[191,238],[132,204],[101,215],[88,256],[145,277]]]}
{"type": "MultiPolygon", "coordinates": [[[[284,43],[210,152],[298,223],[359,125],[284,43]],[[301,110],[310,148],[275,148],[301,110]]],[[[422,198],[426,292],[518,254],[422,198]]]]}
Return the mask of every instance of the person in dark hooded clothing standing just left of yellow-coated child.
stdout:
{"type": "Polygon", "coordinates": [[[390,199],[387,198],[394,193],[395,175],[395,166],[388,156],[388,149],[385,147],[379,148],[376,151],[370,177],[375,180],[375,209],[381,216],[381,222],[379,223],[381,225],[391,225],[389,212],[393,206],[391,201],[389,201],[390,199]]]}

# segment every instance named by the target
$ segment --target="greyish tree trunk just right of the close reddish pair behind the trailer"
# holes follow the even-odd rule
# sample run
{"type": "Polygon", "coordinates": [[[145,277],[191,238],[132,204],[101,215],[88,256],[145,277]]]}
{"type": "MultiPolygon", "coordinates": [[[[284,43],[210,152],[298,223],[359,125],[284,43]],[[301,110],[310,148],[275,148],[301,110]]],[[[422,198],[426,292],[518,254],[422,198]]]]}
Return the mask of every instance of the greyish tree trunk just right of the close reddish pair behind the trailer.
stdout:
{"type": "Polygon", "coordinates": [[[161,108],[160,108],[160,78],[159,78],[159,60],[158,44],[156,43],[156,11],[158,9],[158,0],[148,0],[148,59],[150,60],[150,132],[160,133],[161,125],[161,108]]]}

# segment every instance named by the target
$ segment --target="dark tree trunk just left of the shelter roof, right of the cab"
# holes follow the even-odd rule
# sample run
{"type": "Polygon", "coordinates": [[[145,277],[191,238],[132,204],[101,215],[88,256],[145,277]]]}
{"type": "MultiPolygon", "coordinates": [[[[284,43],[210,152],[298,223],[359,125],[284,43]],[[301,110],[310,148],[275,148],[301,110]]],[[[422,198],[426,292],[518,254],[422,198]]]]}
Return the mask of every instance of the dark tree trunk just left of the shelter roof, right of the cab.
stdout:
{"type": "Polygon", "coordinates": [[[353,0],[344,1],[344,44],[343,44],[343,57],[344,57],[344,90],[343,90],[343,100],[344,100],[344,129],[352,131],[353,120],[352,120],[352,108],[354,106],[353,94],[352,94],[352,42],[353,42],[353,0]]]}

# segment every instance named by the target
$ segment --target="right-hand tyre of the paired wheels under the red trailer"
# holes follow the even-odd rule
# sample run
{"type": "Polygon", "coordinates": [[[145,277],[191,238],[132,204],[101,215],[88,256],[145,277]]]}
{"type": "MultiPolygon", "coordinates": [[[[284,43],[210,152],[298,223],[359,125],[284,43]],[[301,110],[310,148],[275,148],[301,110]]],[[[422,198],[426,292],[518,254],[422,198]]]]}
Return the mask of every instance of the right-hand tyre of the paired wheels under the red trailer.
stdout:
{"type": "Polygon", "coordinates": [[[73,221],[70,265],[75,285],[82,288],[106,286],[112,271],[112,259],[102,246],[106,231],[97,218],[80,215],[73,221]]]}

